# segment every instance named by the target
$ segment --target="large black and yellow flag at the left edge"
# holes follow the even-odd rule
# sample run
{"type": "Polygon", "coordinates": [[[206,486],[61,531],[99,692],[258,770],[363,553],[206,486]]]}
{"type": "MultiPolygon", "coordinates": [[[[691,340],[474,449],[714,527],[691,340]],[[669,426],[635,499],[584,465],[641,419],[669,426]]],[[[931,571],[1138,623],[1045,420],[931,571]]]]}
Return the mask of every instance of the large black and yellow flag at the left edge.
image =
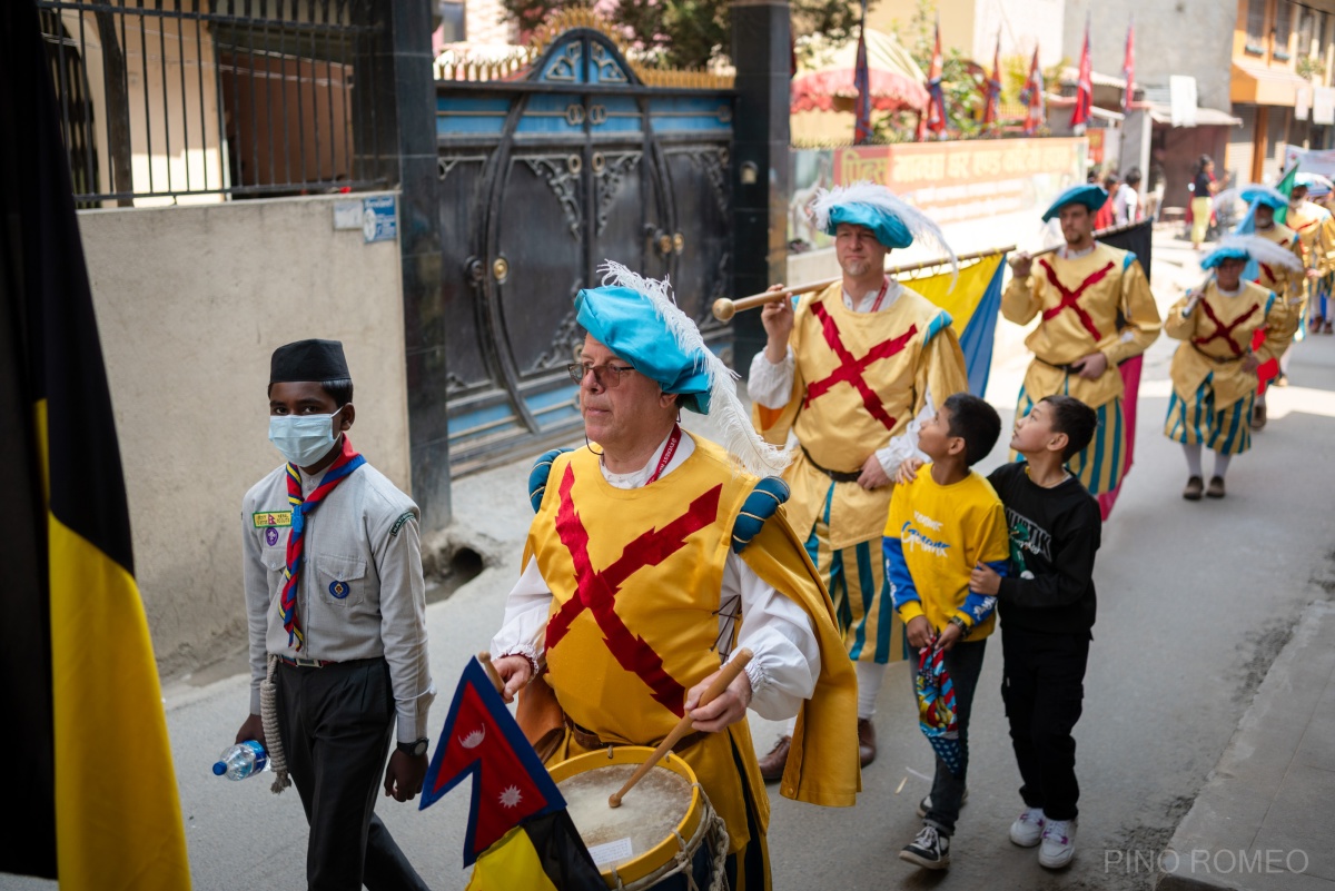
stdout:
{"type": "Polygon", "coordinates": [[[0,871],[190,887],[97,324],[32,0],[0,4],[0,871]]]}

